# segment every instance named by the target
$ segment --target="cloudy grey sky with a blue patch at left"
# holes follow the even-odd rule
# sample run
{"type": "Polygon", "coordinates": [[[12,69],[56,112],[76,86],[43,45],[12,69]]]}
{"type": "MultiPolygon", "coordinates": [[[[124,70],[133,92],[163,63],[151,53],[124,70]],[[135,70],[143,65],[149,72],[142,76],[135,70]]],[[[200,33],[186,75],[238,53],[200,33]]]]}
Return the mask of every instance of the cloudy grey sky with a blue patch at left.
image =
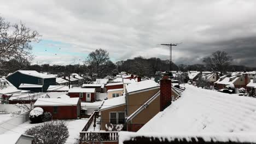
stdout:
{"type": "Polygon", "coordinates": [[[42,35],[33,44],[38,64],[77,64],[102,48],[112,61],[136,56],[200,63],[217,50],[234,64],[256,66],[256,1],[1,1],[0,14],[42,35]]]}

